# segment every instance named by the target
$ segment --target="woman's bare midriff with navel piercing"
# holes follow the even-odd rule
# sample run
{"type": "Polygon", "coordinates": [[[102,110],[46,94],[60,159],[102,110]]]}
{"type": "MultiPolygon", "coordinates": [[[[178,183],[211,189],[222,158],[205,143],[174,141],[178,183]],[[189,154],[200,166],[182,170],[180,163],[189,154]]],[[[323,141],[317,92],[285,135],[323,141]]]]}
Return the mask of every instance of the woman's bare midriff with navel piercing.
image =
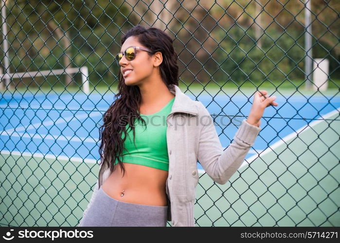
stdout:
{"type": "Polygon", "coordinates": [[[102,189],[110,197],[127,203],[167,206],[166,179],[168,172],[124,163],[125,175],[119,164],[103,182],[102,189]]]}

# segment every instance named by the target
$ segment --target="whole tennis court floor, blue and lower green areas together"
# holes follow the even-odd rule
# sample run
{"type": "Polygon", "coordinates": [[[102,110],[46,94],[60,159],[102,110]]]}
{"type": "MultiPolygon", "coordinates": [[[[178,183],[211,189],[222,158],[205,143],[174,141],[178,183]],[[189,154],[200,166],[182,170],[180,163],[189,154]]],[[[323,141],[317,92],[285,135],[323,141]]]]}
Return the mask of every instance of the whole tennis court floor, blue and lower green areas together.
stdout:
{"type": "MultiPolygon", "coordinates": [[[[197,226],[340,226],[340,97],[276,96],[279,106],[266,108],[247,162],[228,183],[217,186],[197,163],[197,226]]],[[[97,179],[98,128],[112,97],[2,95],[0,225],[77,225],[97,179]]],[[[196,97],[227,147],[253,98],[196,97]]]]}

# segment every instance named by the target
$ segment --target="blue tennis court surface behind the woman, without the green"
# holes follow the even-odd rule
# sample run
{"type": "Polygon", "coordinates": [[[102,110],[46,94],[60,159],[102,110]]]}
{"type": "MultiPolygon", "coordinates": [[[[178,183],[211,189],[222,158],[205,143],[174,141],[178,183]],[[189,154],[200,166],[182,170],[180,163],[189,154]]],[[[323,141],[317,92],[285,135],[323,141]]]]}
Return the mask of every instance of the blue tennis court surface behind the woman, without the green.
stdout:
{"type": "MultiPolygon", "coordinates": [[[[248,116],[251,103],[244,95],[232,99],[200,95],[197,100],[215,118],[221,144],[227,147],[237,131],[236,126],[248,116]]],[[[112,95],[88,98],[81,94],[3,95],[0,101],[1,151],[98,160],[98,128],[112,101],[112,95]]],[[[308,122],[340,107],[340,97],[293,96],[286,99],[277,96],[276,101],[279,106],[265,110],[264,117],[268,118],[261,120],[261,136],[246,158],[261,153],[308,122]]]]}

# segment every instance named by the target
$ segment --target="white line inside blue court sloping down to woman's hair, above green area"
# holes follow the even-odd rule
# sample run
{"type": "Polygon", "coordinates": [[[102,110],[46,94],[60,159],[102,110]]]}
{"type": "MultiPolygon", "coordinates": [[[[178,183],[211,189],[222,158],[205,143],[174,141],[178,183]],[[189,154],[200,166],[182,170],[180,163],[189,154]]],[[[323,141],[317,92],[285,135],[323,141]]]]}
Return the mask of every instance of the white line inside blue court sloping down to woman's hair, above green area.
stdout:
{"type": "Polygon", "coordinates": [[[13,132],[11,135],[6,134],[5,131],[0,133],[1,136],[11,136],[11,137],[19,137],[19,138],[28,138],[28,139],[43,139],[43,140],[61,140],[61,141],[69,141],[69,142],[90,142],[96,143],[97,141],[92,138],[84,138],[84,137],[71,137],[71,136],[57,136],[50,134],[37,134],[37,133],[17,133],[13,132]]]}

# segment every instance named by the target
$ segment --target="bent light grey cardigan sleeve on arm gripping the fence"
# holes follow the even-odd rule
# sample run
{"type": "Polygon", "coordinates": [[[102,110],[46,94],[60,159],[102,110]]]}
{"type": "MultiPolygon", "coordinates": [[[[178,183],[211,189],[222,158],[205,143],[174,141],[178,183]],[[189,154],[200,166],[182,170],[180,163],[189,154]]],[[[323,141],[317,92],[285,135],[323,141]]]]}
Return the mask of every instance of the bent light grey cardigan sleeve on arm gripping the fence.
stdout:
{"type": "Polygon", "coordinates": [[[253,145],[261,128],[241,123],[233,142],[223,150],[218,138],[213,118],[206,107],[199,102],[200,135],[197,158],[205,172],[217,183],[223,185],[238,170],[253,145]]]}

